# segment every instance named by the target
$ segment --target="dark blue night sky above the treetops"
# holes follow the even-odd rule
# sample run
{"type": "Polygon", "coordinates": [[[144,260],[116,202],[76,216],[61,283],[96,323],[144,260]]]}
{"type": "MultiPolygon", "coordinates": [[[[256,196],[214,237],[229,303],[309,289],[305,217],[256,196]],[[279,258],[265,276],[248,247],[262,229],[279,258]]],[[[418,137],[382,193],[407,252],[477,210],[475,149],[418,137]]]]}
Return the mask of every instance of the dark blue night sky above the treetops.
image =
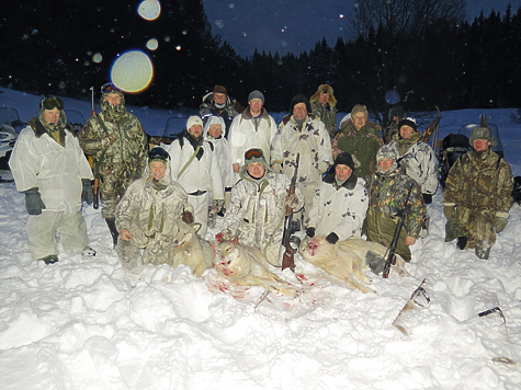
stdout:
{"type": "MultiPolygon", "coordinates": [[[[333,46],[337,37],[349,41],[352,31],[348,15],[356,0],[203,0],[214,34],[236,49],[240,56],[262,50],[299,54],[309,51],[325,37],[333,46]],[[343,15],[343,18],[342,18],[343,15]]],[[[467,0],[467,18],[472,21],[483,10],[505,14],[508,4],[513,12],[520,0],[467,0]]]]}

